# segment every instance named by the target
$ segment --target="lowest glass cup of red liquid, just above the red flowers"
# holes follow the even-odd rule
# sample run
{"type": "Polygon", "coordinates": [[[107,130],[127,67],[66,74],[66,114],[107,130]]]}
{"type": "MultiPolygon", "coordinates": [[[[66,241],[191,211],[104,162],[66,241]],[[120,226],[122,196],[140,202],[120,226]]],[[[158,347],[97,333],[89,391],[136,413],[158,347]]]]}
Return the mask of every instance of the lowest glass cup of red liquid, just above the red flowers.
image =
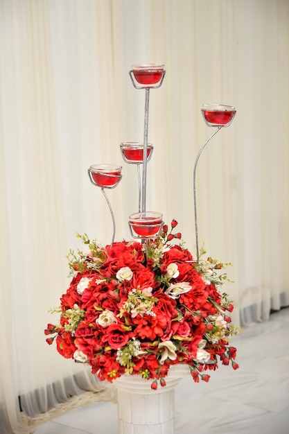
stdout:
{"type": "Polygon", "coordinates": [[[129,217],[130,232],[133,238],[154,238],[164,225],[163,215],[155,211],[142,211],[129,217]]]}

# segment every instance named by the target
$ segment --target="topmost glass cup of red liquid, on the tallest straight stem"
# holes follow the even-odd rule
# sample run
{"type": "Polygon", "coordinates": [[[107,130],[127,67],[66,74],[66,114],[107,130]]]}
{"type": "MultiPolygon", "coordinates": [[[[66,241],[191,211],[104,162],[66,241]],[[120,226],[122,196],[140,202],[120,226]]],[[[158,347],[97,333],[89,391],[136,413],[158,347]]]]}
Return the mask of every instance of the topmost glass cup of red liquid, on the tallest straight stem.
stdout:
{"type": "Polygon", "coordinates": [[[136,89],[156,89],[164,80],[164,65],[160,63],[134,64],[130,71],[136,89]]]}

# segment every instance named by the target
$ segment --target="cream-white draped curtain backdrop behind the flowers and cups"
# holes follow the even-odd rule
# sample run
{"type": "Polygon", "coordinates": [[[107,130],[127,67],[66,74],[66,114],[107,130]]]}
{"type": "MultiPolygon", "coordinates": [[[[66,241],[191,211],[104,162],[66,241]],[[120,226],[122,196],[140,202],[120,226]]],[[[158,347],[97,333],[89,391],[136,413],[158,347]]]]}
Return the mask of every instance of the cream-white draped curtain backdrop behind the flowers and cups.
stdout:
{"type": "Polygon", "coordinates": [[[108,196],[116,240],[129,238],[137,171],[119,144],[143,140],[144,92],[128,71],[148,62],[164,63],[166,77],[150,92],[147,209],[175,218],[195,252],[193,164],[213,132],[200,107],[236,106],[198,164],[199,240],[234,264],[236,324],[289,304],[288,0],[0,0],[3,434],[32,432],[74,395],[113,399],[44,329],[69,284],[76,232],[111,241],[91,164],[123,166],[108,196]]]}

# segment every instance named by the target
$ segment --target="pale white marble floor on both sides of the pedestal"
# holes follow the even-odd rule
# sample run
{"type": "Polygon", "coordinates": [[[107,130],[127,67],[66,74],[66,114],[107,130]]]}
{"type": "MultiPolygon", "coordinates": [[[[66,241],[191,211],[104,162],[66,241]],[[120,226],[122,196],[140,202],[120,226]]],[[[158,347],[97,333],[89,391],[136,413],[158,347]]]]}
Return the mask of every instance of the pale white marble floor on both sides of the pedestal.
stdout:
{"type": "MultiPolygon", "coordinates": [[[[175,434],[289,433],[289,308],[231,341],[240,368],[221,366],[209,383],[185,377],[175,390],[175,434]]],[[[117,407],[76,408],[35,434],[116,434],[117,407]]],[[[151,431],[150,431],[150,434],[151,431]]]]}

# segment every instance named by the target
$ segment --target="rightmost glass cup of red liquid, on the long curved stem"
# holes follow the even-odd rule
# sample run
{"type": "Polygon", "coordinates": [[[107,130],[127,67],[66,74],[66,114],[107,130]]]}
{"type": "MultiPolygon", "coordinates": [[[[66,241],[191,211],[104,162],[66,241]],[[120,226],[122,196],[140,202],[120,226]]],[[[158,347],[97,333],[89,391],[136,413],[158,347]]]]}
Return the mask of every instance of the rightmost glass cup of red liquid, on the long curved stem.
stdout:
{"type": "Polygon", "coordinates": [[[209,127],[228,127],[236,114],[235,107],[222,104],[204,104],[201,111],[209,127]]]}

